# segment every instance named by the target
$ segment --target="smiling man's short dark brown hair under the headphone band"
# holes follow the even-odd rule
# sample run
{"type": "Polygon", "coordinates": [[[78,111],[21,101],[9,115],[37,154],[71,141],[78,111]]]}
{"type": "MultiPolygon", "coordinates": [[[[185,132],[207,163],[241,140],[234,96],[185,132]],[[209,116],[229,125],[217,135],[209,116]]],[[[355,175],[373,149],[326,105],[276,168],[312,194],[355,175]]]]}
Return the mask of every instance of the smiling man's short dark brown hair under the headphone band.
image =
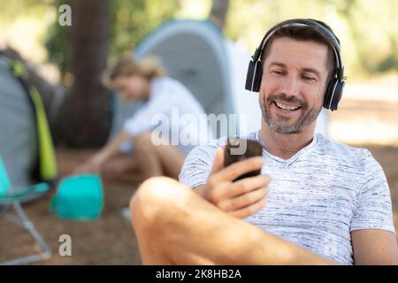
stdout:
{"type": "MultiPolygon", "coordinates": [[[[327,26],[324,22],[315,19],[311,20],[318,22],[318,24],[324,26],[333,34],[332,28],[327,26]]],[[[285,22],[282,22],[279,25],[284,26],[284,23],[285,22]]],[[[272,42],[275,39],[281,37],[291,38],[299,42],[318,42],[321,44],[325,44],[328,47],[328,56],[326,63],[327,64],[326,68],[329,71],[328,80],[333,78],[336,70],[336,57],[334,55],[334,50],[333,50],[333,39],[319,32],[317,27],[312,27],[312,26],[302,26],[302,27],[286,26],[279,28],[277,27],[275,33],[272,34],[272,37],[268,40],[268,42],[266,42],[264,46],[263,54],[261,55],[261,62],[263,62],[263,65],[265,59],[268,57],[270,53],[272,42]]]]}

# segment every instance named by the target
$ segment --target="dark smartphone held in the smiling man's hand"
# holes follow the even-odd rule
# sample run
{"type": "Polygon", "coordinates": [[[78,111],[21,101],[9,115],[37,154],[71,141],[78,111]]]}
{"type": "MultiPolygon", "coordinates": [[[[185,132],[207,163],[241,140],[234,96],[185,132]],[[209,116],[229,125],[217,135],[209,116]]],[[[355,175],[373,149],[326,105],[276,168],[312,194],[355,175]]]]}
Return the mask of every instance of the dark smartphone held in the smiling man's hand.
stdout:
{"type": "MultiPolygon", "coordinates": [[[[224,155],[224,167],[249,157],[262,157],[264,145],[256,140],[228,137],[226,140],[226,150],[224,155]]],[[[247,172],[233,181],[243,178],[253,177],[261,173],[261,168],[247,172]]]]}

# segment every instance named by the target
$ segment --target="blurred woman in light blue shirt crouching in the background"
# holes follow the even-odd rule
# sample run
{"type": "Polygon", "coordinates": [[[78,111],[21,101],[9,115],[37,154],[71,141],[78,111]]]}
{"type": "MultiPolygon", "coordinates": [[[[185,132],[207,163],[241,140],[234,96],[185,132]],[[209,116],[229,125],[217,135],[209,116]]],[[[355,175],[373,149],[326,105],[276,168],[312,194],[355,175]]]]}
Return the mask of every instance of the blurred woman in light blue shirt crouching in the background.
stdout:
{"type": "Polygon", "coordinates": [[[75,172],[96,172],[106,179],[131,180],[138,169],[142,179],[164,175],[178,180],[189,150],[207,142],[210,136],[207,126],[198,126],[199,121],[183,123],[180,119],[185,114],[199,119],[205,114],[201,104],[178,80],[165,76],[154,58],[138,62],[134,57],[122,57],[108,70],[105,80],[122,101],[140,101],[142,106],[126,119],[123,130],[111,142],[80,164],[75,172]],[[180,115],[177,123],[172,120],[172,111],[180,115]],[[153,120],[157,119],[167,121],[154,125],[153,120]],[[158,126],[163,137],[170,137],[161,144],[154,141],[157,135],[152,134],[158,126]],[[180,140],[181,130],[184,136],[189,136],[188,144],[180,140]],[[179,136],[178,145],[171,145],[170,134],[175,133],[179,136]]]}

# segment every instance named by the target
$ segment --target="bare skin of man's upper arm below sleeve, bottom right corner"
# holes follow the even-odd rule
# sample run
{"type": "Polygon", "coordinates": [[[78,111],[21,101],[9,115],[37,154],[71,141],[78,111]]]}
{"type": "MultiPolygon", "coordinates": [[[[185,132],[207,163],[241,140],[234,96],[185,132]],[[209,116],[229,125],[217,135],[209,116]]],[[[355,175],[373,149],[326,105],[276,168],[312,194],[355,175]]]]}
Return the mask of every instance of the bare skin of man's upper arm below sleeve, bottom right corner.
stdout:
{"type": "Polygon", "coordinates": [[[354,264],[398,264],[395,234],[385,230],[364,229],[351,232],[354,264]]]}

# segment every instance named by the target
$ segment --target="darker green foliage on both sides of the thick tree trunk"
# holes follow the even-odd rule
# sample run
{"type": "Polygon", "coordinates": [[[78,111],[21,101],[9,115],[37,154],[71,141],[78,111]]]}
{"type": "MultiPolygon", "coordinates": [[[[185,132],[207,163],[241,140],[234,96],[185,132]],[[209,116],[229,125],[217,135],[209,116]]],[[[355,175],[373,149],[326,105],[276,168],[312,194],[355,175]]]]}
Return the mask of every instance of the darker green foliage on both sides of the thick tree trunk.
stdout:
{"type": "MultiPolygon", "coordinates": [[[[68,4],[68,1],[57,0],[53,3],[56,9],[61,4],[68,4]]],[[[134,50],[134,46],[153,29],[172,19],[178,8],[177,0],[111,0],[110,57],[119,57],[134,50]]],[[[67,33],[68,27],[61,27],[56,21],[46,42],[50,61],[58,65],[63,74],[69,71],[70,64],[67,33]]]]}

